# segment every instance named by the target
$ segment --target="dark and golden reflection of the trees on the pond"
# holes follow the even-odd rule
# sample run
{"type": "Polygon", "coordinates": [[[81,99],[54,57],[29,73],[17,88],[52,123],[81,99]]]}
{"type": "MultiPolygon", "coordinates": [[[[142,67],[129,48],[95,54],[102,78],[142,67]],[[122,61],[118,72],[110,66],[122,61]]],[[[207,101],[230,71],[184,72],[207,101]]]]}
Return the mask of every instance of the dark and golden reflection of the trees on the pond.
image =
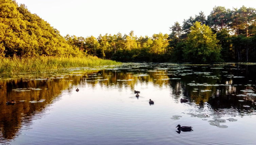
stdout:
{"type": "MultiPolygon", "coordinates": [[[[168,89],[175,103],[189,106],[189,113],[185,115],[203,118],[205,121],[212,117],[213,120],[207,120],[211,125],[225,128],[226,125],[219,124],[225,123],[220,120],[224,117],[234,121],[237,119],[232,116],[255,115],[255,68],[256,65],[243,64],[132,63],[115,67],[69,69],[40,76],[35,73],[17,74],[8,79],[2,75],[0,143],[14,139],[19,136],[21,128],[29,128],[34,119],[40,119],[45,114],[45,108],[61,99],[62,90],[71,93],[78,86],[80,91],[77,88],[76,92],[82,93],[81,89],[88,85],[95,91],[114,89],[122,92],[124,88],[129,88],[132,94],[138,84],[147,86],[152,83],[154,88],[168,89]],[[9,100],[15,100],[16,103],[5,105],[9,100]]],[[[148,101],[145,93],[140,95],[133,98],[148,101]]],[[[149,102],[149,105],[153,104],[149,102]]],[[[175,118],[177,116],[172,119],[175,118]]],[[[181,131],[186,132],[178,129],[177,133],[181,131]]]]}

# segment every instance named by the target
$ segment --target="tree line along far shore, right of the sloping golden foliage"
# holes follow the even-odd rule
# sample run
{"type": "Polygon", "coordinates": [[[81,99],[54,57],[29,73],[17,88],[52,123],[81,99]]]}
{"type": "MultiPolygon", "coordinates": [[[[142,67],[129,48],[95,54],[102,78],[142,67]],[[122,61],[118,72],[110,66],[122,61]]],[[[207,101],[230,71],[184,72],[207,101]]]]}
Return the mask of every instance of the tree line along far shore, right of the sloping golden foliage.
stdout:
{"type": "Polygon", "coordinates": [[[194,62],[256,61],[256,12],[242,6],[233,10],[214,7],[210,15],[202,11],[195,17],[175,22],[171,33],[151,37],[99,35],[97,38],[65,38],[87,54],[117,61],[194,62]]]}

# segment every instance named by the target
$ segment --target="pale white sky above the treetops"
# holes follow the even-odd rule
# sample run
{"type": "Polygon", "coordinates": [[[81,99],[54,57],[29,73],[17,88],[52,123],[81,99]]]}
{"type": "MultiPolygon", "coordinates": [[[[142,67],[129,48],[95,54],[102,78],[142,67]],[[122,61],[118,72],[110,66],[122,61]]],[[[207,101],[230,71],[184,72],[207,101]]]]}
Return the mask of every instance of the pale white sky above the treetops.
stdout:
{"type": "Polygon", "coordinates": [[[25,4],[62,36],[87,37],[99,34],[128,34],[152,36],[169,34],[169,27],[178,21],[198,15],[207,17],[214,6],[232,9],[256,8],[256,0],[16,0],[25,4]]]}

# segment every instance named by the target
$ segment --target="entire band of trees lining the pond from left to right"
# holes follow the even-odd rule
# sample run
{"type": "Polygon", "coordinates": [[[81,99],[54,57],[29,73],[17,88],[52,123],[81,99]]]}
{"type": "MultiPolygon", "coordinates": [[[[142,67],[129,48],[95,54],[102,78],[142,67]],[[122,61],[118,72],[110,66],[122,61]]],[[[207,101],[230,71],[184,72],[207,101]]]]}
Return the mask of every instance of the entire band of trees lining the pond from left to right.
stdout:
{"type": "MultiPolygon", "coordinates": [[[[169,34],[61,36],[24,4],[0,3],[0,57],[97,56],[121,62],[256,62],[256,11],[215,6],[175,22],[169,34]]],[[[85,24],[86,26],[86,24],[85,24]]],[[[85,34],[86,35],[86,34],[85,34]]]]}

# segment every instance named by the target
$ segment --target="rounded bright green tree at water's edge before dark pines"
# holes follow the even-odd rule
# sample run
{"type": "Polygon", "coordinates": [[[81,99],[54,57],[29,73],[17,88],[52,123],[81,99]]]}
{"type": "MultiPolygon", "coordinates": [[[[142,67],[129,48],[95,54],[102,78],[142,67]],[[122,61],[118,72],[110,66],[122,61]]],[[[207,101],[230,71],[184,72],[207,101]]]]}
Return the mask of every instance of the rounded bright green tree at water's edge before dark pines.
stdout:
{"type": "Polygon", "coordinates": [[[221,47],[217,43],[216,34],[213,34],[210,27],[195,22],[185,41],[184,60],[194,63],[220,61],[221,47]]]}

